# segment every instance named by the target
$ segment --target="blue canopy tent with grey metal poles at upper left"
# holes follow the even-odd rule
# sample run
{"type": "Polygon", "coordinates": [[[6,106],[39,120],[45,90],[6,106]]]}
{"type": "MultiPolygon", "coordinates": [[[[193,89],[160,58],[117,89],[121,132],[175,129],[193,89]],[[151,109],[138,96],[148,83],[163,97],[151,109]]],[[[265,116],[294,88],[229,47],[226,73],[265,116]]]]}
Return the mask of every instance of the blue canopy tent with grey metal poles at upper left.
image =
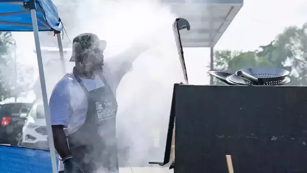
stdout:
{"type": "MultiPolygon", "coordinates": [[[[52,137],[50,112],[47,99],[45,76],[43,73],[43,64],[41,58],[38,32],[53,31],[55,32],[55,34],[57,34],[60,50],[60,59],[62,62],[62,70],[65,73],[63,48],[60,37],[60,32],[62,30],[63,26],[60,22],[57,8],[51,0],[0,0],[0,31],[33,31],[34,33],[41,93],[46,115],[46,124],[53,173],[57,172],[57,159],[55,155],[52,137]]],[[[16,172],[19,171],[24,172],[24,170],[18,170],[16,172]]]]}

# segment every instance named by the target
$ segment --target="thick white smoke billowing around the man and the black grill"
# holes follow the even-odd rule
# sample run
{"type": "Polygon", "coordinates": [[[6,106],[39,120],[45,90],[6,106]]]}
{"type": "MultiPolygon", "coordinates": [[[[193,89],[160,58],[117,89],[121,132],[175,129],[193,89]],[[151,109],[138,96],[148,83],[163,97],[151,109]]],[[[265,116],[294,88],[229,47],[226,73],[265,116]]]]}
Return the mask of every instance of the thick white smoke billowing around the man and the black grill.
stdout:
{"type": "MultiPolygon", "coordinates": [[[[66,1],[54,3],[58,9],[70,6],[66,1]]],[[[177,15],[169,7],[149,0],[78,1],[74,8],[74,14],[59,14],[64,26],[74,24],[68,36],[72,40],[84,32],[98,35],[107,41],[105,59],[123,53],[134,42],[150,45],[117,89],[119,152],[127,153],[119,160],[126,166],[149,166],[149,161],[162,161],[173,84],[184,81],[172,33],[177,15]]],[[[35,55],[31,58],[35,59],[35,55]]],[[[32,64],[37,69],[37,62],[32,64]]],[[[45,78],[53,76],[45,74],[45,78]]]]}

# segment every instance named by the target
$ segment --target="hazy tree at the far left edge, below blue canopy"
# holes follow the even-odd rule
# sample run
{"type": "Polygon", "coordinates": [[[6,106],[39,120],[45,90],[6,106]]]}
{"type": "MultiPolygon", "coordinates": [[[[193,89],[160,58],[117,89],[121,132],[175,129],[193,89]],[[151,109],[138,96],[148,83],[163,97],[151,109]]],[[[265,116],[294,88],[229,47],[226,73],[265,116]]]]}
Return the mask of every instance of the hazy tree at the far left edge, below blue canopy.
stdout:
{"type": "Polygon", "coordinates": [[[11,32],[0,32],[0,99],[10,97],[11,88],[7,79],[12,78],[12,75],[7,73],[7,67],[12,58],[11,50],[15,49],[15,45],[11,32]]]}

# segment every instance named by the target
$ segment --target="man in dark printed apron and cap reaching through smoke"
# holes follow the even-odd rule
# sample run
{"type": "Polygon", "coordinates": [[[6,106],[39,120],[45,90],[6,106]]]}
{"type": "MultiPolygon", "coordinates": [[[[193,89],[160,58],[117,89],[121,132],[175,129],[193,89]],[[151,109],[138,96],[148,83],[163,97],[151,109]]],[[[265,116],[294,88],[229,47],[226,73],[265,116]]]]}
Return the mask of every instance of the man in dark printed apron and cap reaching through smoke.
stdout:
{"type": "Polygon", "coordinates": [[[59,172],[118,172],[116,89],[146,47],[139,45],[109,61],[103,59],[105,48],[106,41],[95,34],[76,36],[73,73],[53,89],[49,104],[59,172]]]}

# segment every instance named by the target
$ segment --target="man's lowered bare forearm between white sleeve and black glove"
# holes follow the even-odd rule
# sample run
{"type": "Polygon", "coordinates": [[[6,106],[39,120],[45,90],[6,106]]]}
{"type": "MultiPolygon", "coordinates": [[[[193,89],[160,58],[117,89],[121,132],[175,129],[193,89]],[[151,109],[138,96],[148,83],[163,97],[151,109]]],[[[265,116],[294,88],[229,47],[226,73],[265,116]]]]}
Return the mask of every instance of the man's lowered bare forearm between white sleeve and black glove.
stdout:
{"type": "Polygon", "coordinates": [[[70,156],[69,147],[67,144],[66,135],[63,130],[63,125],[52,125],[54,147],[61,158],[70,156]]]}

